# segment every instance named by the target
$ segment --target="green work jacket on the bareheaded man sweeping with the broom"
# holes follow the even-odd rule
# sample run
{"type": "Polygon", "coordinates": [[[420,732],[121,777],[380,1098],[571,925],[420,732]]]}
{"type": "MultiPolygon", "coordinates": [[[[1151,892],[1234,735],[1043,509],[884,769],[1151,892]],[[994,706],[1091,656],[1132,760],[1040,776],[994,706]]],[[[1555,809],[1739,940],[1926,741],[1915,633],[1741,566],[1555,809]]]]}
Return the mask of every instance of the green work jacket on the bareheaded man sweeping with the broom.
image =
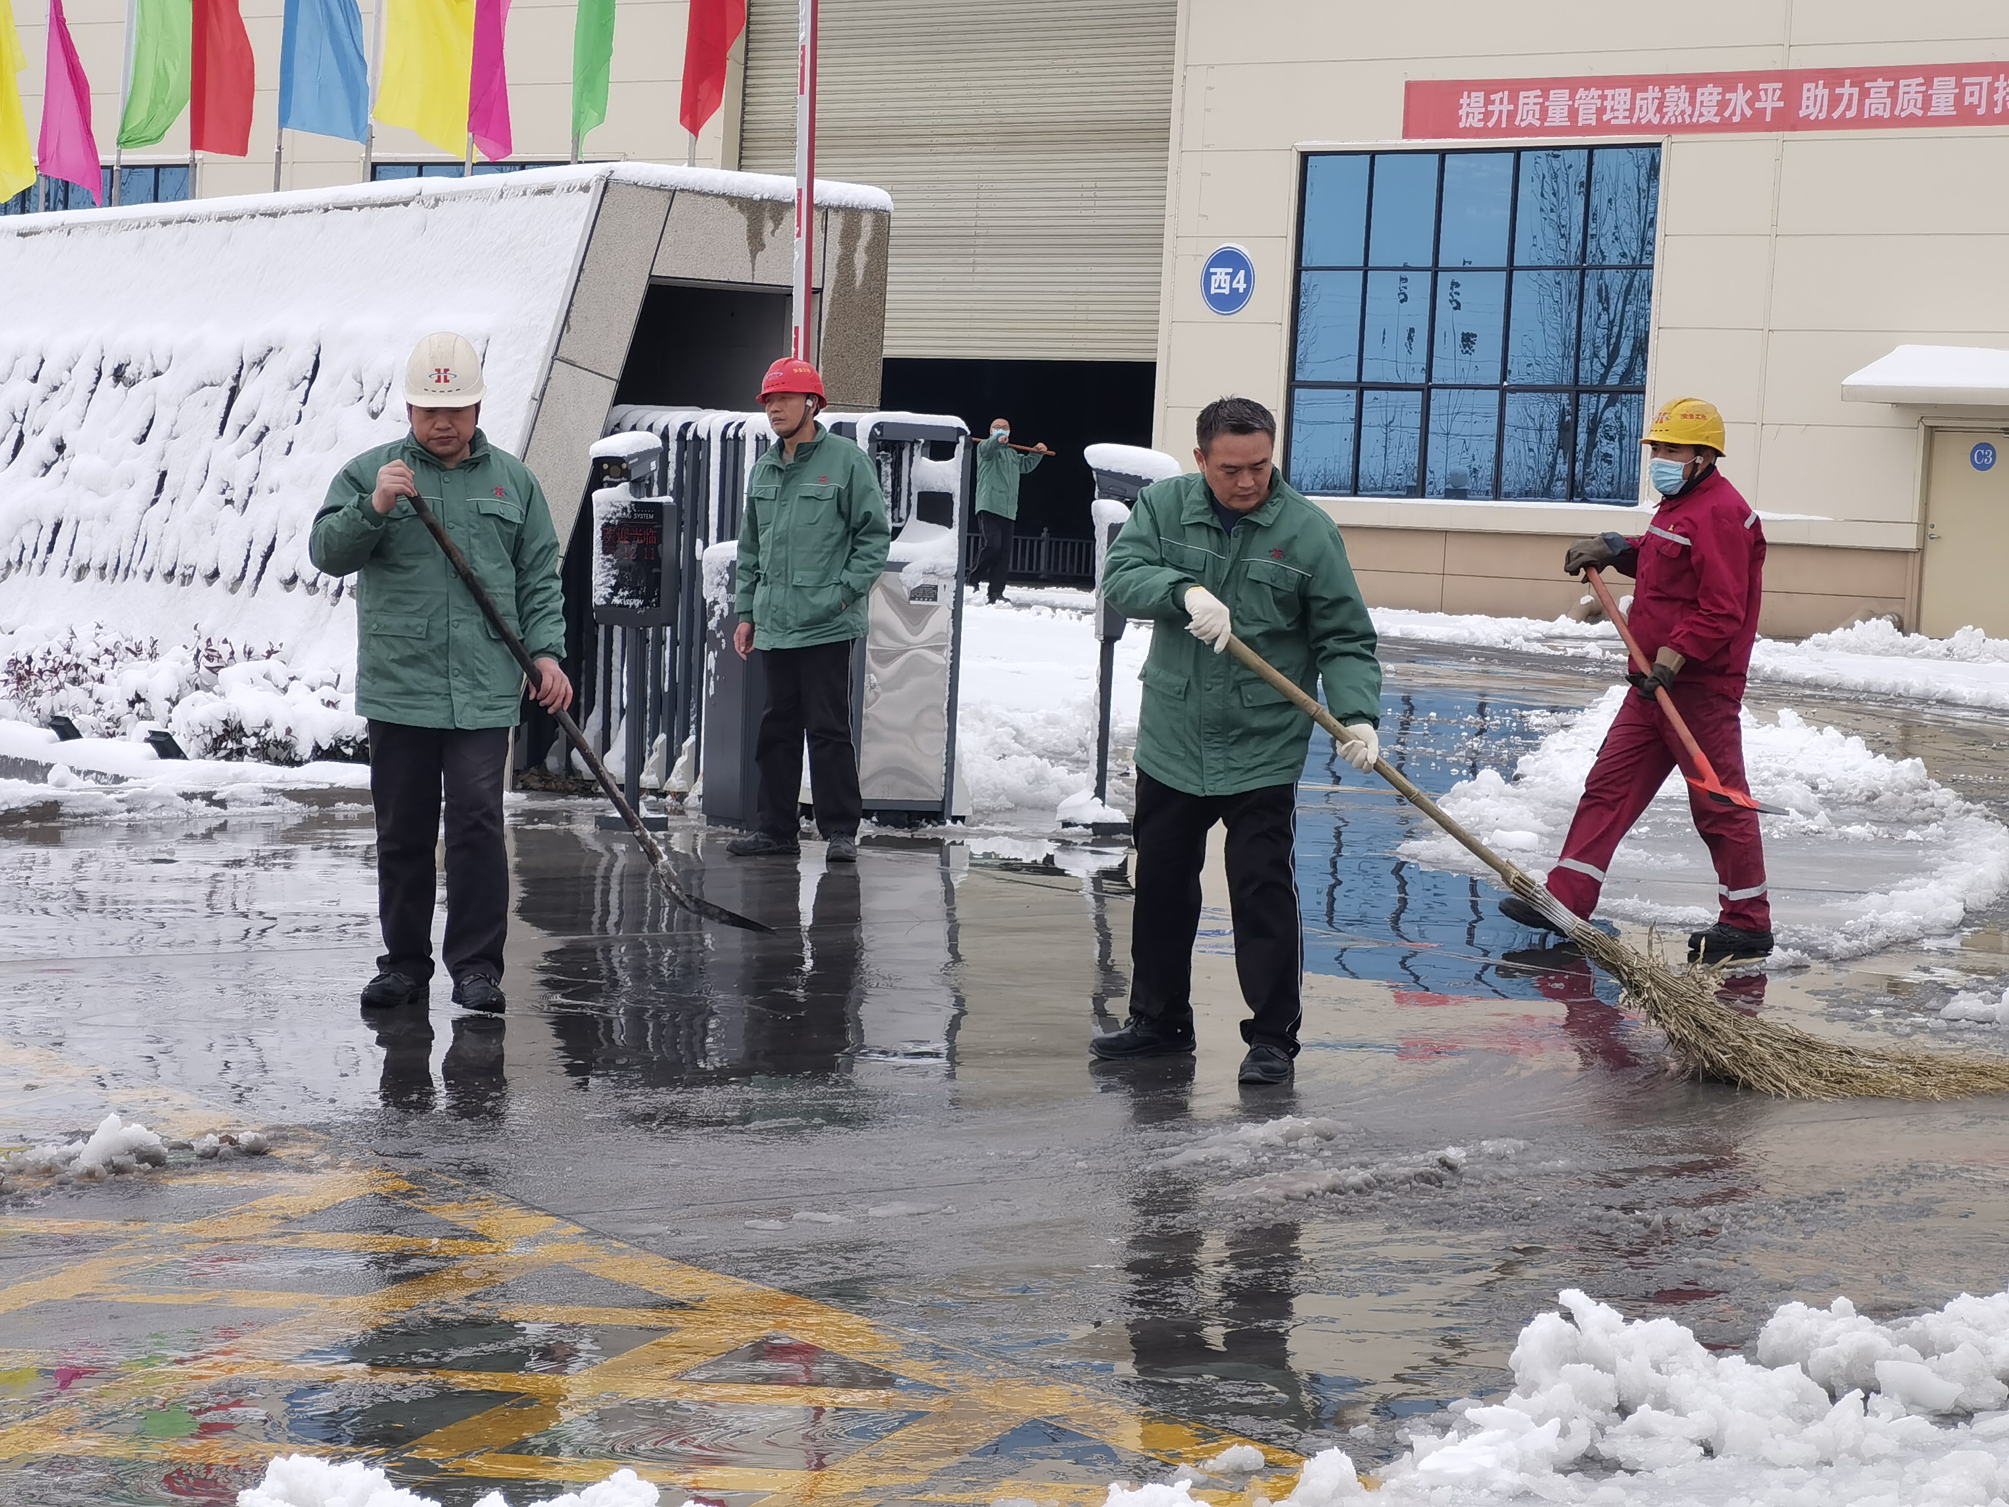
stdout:
{"type": "Polygon", "coordinates": [[[1296,784],[1312,719],[1185,625],[1185,593],[1227,603],[1236,637],[1342,723],[1380,717],[1374,625],[1332,518],[1282,476],[1234,532],[1223,532],[1199,474],[1153,482],[1109,547],[1103,591],[1125,617],[1153,621],[1145,657],[1137,768],[1191,796],[1296,784]]]}

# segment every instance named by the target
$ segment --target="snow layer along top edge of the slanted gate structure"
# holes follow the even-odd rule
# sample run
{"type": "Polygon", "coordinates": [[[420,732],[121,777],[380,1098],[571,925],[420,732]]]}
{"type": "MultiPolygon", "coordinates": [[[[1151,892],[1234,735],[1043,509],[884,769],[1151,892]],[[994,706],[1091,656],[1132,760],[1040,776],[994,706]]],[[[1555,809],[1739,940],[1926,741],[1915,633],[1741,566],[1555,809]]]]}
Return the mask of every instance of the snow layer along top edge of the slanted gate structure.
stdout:
{"type": "MultiPolygon", "coordinates": [[[[796,179],[775,173],[727,173],[715,167],[679,167],[669,163],[579,163],[569,167],[532,167],[520,173],[482,173],[468,179],[386,179],[382,183],[346,183],[333,189],[295,189],[287,193],[251,193],[229,199],[185,199],[167,205],[123,205],[106,209],[70,209],[60,215],[4,215],[0,237],[32,237],[78,227],[129,225],[135,221],[241,219],[247,215],[301,215],[327,209],[362,209],[370,205],[400,205],[414,199],[506,199],[530,193],[585,189],[599,181],[635,183],[645,189],[703,193],[719,199],[759,199],[763,203],[794,203],[796,179]]],[[[824,209],[866,209],[892,213],[892,195],[862,183],[816,181],[816,203],[824,209]]]]}

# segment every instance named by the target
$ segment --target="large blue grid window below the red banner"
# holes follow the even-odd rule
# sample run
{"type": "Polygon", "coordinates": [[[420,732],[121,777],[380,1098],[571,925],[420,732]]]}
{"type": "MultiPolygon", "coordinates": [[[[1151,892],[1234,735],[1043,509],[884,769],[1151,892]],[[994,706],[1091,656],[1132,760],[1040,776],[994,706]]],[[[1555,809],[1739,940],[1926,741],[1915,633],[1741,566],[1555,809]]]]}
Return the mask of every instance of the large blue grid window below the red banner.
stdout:
{"type": "Polygon", "coordinates": [[[1635,502],[1657,147],[1304,159],[1302,492],[1635,502]]]}

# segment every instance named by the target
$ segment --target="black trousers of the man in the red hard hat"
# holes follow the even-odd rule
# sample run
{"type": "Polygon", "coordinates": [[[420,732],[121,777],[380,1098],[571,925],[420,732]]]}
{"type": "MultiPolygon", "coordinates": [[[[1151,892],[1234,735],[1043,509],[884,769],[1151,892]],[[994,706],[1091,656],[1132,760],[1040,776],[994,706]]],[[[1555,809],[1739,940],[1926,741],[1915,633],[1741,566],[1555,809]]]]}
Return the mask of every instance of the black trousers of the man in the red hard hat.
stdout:
{"type": "Polygon", "coordinates": [[[856,639],[761,651],[767,705],[753,762],[759,766],[759,830],[769,836],[796,840],[804,733],[810,737],[816,830],[826,838],[858,836],[864,804],[852,747],[852,643],[856,639]]]}

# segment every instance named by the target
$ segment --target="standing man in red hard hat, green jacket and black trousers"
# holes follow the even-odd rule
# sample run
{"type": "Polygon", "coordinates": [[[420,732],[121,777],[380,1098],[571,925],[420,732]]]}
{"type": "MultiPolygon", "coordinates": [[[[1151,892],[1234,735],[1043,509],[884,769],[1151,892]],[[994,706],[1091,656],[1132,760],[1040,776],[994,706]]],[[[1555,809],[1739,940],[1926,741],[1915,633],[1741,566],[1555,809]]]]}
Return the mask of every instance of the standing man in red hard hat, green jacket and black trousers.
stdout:
{"type": "Polygon", "coordinates": [[[834,864],[858,862],[858,751],[852,747],[852,643],[866,633],[872,583],[886,569],[878,468],[816,422],[824,378],[786,356],[759,384],[775,442],[753,462],[739,518],[733,649],[761,651],[767,705],[753,762],[759,826],[725,846],[735,858],[796,856],[802,739],[810,739],[816,828],[834,864]]]}

